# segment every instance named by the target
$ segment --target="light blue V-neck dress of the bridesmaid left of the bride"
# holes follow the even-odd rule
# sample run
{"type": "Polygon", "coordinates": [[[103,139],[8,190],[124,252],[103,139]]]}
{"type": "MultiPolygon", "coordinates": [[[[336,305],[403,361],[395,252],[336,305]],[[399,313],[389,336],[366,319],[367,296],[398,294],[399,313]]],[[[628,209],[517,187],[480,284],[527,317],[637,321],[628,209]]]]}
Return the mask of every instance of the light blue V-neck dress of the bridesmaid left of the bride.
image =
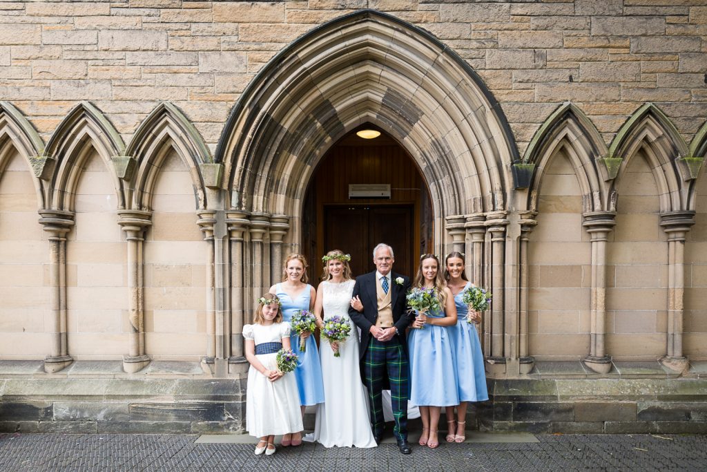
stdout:
{"type": "MultiPolygon", "coordinates": [[[[276,285],[276,295],[282,304],[282,316],[284,321],[288,323],[292,319],[293,314],[298,310],[308,310],[310,307],[310,292],[311,285],[307,285],[305,289],[293,300],[284,292],[281,284],[276,285]]],[[[300,393],[301,405],[316,405],[324,403],[324,381],[322,380],[322,365],[319,360],[319,350],[317,343],[314,340],[314,334],[307,338],[305,352],[300,352],[300,337],[295,330],[290,335],[290,344],[292,350],[298,355],[297,369],[295,369],[295,378],[297,379],[297,389],[300,393]]]]}

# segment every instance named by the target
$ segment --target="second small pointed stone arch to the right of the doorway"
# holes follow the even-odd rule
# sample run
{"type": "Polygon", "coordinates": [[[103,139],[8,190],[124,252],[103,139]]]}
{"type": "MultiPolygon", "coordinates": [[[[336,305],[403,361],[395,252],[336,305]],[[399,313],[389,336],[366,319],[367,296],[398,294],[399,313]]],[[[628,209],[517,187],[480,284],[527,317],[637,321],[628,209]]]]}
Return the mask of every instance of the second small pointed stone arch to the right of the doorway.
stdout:
{"type": "Polygon", "coordinates": [[[687,146],[674,127],[670,118],[653,103],[645,103],[621,126],[608,156],[621,158],[617,178],[612,182],[612,190],[618,188],[629,161],[641,150],[653,171],[655,185],[658,186],[660,212],[679,212],[686,208],[689,175],[677,159],[688,153],[687,146]]]}

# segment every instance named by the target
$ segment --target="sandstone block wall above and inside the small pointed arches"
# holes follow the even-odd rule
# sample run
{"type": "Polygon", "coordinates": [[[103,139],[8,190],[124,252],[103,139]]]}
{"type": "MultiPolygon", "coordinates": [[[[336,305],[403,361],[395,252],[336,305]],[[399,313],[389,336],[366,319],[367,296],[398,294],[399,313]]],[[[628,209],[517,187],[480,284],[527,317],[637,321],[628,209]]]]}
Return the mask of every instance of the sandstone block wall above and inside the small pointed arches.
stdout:
{"type": "MultiPolygon", "coordinates": [[[[230,110],[264,64],[300,35],[358,8],[391,13],[457,52],[501,104],[520,156],[565,101],[587,115],[607,146],[645,102],[658,105],[686,143],[703,139],[697,133],[707,117],[707,5],[699,0],[5,2],[0,100],[16,106],[45,143],[63,142],[54,149],[67,155],[76,136],[56,131],[78,102],[95,105],[128,143],[165,100],[213,155],[230,110]]],[[[169,149],[157,149],[151,139],[161,129],[131,145],[144,142],[144,153],[156,156],[145,171],[153,185],[144,243],[147,352],[196,360],[211,349],[206,333],[213,333],[209,243],[195,212],[203,195],[194,153],[180,141],[184,134],[170,129],[160,137],[169,149]]],[[[86,149],[77,151],[82,157],[72,171],[78,183],[67,193],[75,212],[66,242],[69,352],[76,359],[118,359],[130,326],[117,178],[101,137],[81,139],[76,146],[86,149]]],[[[18,142],[1,136],[0,142],[0,357],[39,359],[48,352],[53,316],[47,234],[37,222],[42,202],[18,142]]],[[[572,152],[546,156],[530,234],[528,342],[537,359],[580,359],[589,350],[590,236],[572,152]]],[[[668,236],[660,226],[665,190],[650,151],[638,146],[622,157],[616,226],[607,243],[607,352],[656,359],[667,349],[670,310],[668,236]]],[[[693,180],[696,224],[684,243],[684,353],[691,359],[707,358],[704,173],[693,180]]],[[[264,237],[269,244],[271,236],[264,237]]],[[[251,272],[269,285],[269,267],[264,275],[251,272]]]]}

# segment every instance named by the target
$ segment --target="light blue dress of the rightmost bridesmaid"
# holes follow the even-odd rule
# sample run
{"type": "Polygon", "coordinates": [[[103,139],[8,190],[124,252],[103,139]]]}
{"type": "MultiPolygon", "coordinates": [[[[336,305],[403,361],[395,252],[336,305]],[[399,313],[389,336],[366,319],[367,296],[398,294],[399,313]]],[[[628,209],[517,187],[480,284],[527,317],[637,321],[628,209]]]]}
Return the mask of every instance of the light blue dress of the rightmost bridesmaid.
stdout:
{"type": "Polygon", "coordinates": [[[489,399],[486,390],[486,372],[484,370],[484,354],[477,328],[467,323],[469,308],[462,301],[462,293],[471,287],[471,282],[454,297],[457,306],[457,324],[450,326],[457,381],[459,383],[459,401],[484,401],[489,399]]]}

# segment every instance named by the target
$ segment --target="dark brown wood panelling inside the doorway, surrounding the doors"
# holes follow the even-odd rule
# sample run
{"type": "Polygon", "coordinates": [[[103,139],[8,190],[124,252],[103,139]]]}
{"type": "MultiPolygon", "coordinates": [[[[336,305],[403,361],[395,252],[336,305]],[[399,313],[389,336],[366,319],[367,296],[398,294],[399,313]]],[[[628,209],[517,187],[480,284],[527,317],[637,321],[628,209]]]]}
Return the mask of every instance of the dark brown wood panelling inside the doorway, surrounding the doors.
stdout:
{"type": "MultiPolygon", "coordinates": [[[[370,140],[361,139],[356,134],[341,139],[320,162],[305,198],[303,251],[310,261],[310,279],[315,282],[318,280],[322,255],[331,249],[324,247],[327,206],[360,208],[411,205],[414,208],[411,267],[414,269],[414,261],[419,258],[421,251],[428,251],[432,247],[432,221],[421,221],[422,215],[431,219],[431,208],[423,209],[423,206],[430,205],[427,192],[416,163],[395,140],[385,134],[370,140]],[[349,184],[390,184],[391,197],[350,200],[349,184]]],[[[349,223],[337,221],[337,224],[349,223]]],[[[352,225],[351,231],[358,230],[355,226],[352,225]]],[[[347,251],[346,248],[341,249],[347,251]]],[[[363,257],[371,259],[368,254],[363,257]]],[[[414,273],[407,275],[414,276],[414,273]]]]}

